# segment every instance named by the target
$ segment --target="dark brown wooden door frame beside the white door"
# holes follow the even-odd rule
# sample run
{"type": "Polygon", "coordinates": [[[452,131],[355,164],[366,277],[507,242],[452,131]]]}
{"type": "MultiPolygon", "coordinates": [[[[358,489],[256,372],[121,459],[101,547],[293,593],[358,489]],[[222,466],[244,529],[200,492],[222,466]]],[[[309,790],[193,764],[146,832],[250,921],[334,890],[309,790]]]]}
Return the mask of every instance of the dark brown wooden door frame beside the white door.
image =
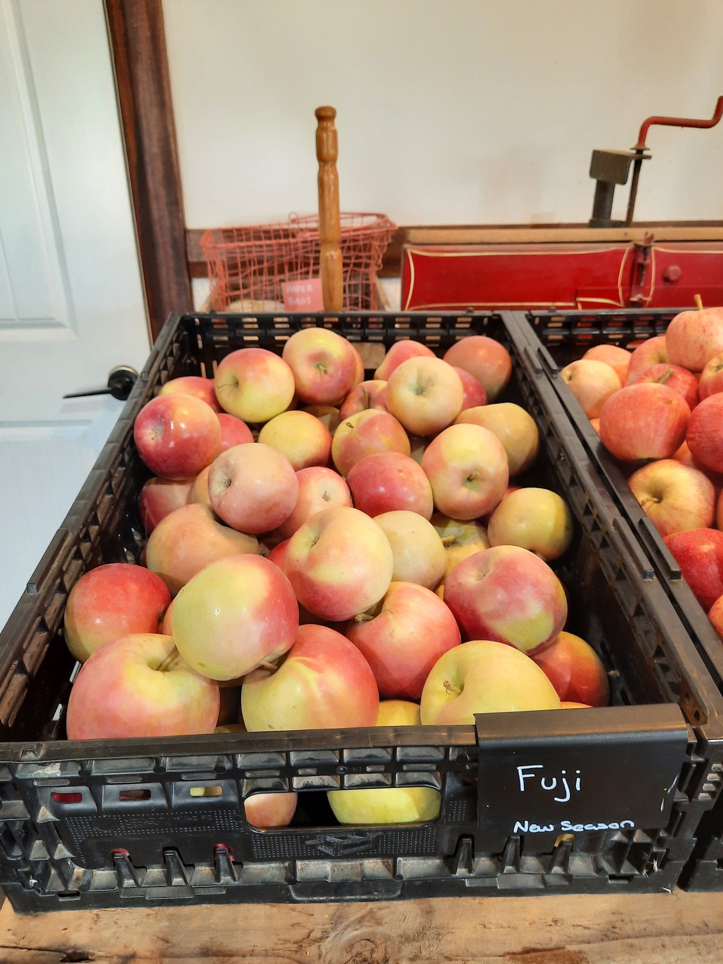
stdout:
{"type": "Polygon", "coordinates": [[[104,0],[148,317],[193,309],[161,0],[104,0]]]}

